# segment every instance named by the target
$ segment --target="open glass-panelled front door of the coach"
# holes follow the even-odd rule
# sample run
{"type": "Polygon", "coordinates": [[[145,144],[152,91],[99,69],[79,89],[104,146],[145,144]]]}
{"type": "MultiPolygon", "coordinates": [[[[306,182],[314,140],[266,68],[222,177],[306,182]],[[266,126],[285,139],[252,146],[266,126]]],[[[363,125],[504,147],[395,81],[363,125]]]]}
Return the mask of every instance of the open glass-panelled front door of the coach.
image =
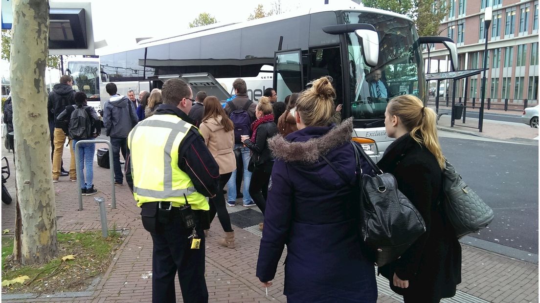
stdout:
{"type": "Polygon", "coordinates": [[[303,89],[302,52],[300,49],[274,53],[273,87],[278,100],[303,89]]]}

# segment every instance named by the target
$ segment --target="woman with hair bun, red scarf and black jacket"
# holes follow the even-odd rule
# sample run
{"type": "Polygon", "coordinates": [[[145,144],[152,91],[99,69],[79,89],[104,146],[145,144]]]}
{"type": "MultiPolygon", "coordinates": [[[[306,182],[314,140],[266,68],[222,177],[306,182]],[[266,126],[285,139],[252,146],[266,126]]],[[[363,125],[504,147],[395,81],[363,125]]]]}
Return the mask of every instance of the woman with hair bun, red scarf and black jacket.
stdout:
{"type": "MultiPolygon", "coordinates": [[[[278,133],[278,127],[274,122],[272,104],[268,97],[259,99],[259,103],[255,108],[255,116],[257,116],[257,120],[251,124],[251,139],[247,135],[242,136],[241,139],[251,149],[251,159],[249,160],[251,168],[248,167],[248,169],[253,171],[253,174],[249,182],[249,195],[264,214],[268,181],[274,166],[274,157],[268,148],[268,139],[278,133]]],[[[251,206],[251,204],[244,206],[251,206]]]]}

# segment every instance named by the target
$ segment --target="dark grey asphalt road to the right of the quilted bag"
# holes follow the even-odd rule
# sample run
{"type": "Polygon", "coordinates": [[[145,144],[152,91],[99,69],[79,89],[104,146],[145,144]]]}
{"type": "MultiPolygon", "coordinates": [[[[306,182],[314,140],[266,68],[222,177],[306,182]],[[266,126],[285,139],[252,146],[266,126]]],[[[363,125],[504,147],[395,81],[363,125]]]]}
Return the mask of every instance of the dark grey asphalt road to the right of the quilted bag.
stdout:
{"type": "Polygon", "coordinates": [[[495,213],[478,234],[538,253],[538,146],[441,137],[448,161],[495,213]]]}

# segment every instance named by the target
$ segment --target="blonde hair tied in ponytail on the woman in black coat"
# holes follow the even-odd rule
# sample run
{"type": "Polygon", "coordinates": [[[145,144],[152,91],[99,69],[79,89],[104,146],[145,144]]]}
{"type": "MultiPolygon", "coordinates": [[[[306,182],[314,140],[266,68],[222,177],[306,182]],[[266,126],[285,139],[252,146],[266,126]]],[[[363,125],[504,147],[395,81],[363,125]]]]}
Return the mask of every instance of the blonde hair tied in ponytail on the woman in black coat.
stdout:
{"type": "Polygon", "coordinates": [[[444,156],[438,141],[437,114],[433,109],[424,107],[422,101],[413,95],[401,95],[390,101],[388,113],[401,119],[414,141],[424,144],[437,159],[439,167],[443,169],[444,156]]]}

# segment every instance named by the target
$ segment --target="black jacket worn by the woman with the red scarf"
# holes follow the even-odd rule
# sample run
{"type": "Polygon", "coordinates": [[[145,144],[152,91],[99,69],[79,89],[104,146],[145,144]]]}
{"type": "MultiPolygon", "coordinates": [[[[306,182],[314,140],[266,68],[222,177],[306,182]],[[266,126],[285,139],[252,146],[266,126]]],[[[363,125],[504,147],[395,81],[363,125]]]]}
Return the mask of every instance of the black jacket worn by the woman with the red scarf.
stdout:
{"type": "Polygon", "coordinates": [[[247,139],[244,144],[251,149],[251,157],[255,166],[261,166],[270,161],[274,161],[272,150],[268,147],[268,139],[278,134],[278,126],[274,121],[262,123],[257,127],[255,143],[247,139]]]}

